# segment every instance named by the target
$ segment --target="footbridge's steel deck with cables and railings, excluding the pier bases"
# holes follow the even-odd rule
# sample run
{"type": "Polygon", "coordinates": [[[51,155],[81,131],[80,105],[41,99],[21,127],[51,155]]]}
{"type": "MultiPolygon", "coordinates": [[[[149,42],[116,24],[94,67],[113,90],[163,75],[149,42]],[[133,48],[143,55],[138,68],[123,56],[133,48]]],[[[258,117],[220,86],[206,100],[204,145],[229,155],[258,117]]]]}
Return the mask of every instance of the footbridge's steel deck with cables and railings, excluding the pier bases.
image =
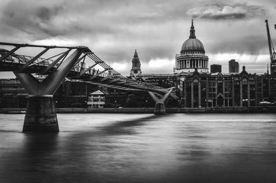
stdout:
{"type": "MultiPolygon", "coordinates": [[[[170,91],[170,89],[164,89],[156,85],[122,76],[85,46],[66,47],[2,42],[0,42],[0,45],[7,47],[6,49],[0,49],[0,72],[12,71],[19,80],[22,75],[32,77],[31,74],[36,74],[39,78],[44,78],[41,83],[45,84],[49,83],[49,80],[52,81],[50,79],[52,74],[63,70],[64,73],[60,74],[62,76],[54,77],[55,80],[59,78],[59,82],[57,82],[59,84],[66,77],[69,80],[78,80],[116,89],[153,92],[161,96],[170,91]],[[39,53],[34,56],[15,53],[32,47],[42,50],[39,50],[39,53]],[[74,53],[71,54],[71,52],[74,53]],[[43,58],[42,56],[46,54],[47,57],[43,58]],[[74,58],[70,58],[70,56],[74,58]],[[87,66],[88,64],[91,66],[87,66]],[[71,67],[64,69],[66,65],[71,67]],[[95,69],[96,67],[100,68],[95,69]]],[[[26,89],[28,90],[28,88],[26,89]]],[[[47,94],[52,95],[54,93],[55,91],[51,90],[47,94]]],[[[177,100],[177,96],[174,94],[170,94],[170,98],[177,100]]]]}

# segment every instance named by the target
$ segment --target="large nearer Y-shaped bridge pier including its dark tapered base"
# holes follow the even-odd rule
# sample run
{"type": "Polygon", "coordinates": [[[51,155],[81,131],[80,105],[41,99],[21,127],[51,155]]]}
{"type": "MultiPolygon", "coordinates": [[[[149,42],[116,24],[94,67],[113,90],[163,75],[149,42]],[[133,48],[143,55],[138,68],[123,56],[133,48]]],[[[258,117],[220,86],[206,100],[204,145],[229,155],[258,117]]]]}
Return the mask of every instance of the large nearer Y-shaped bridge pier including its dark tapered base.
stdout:
{"type": "Polygon", "coordinates": [[[29,94],[23,132],[57,132],[57,112],[53,95],[83,50],[76,50],[59,67],[39,82],[32,74],[14,72],[29,94]]]}

